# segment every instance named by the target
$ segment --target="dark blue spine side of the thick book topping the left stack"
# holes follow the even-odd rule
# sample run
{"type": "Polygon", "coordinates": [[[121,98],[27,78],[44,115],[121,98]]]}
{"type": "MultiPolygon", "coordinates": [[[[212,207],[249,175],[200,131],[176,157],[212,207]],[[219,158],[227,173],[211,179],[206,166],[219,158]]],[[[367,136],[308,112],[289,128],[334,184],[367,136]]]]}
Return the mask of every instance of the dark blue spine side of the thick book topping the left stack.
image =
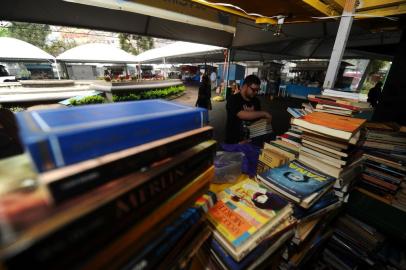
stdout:
{"type": "Polygon", "coordinates": [[[49,135],[45,142],[28,142],[28,148],[34,157],[38,171],[44,172],[52,169],[52,166],[62,167],[75,164],[200,128],[205,125],[206,119],[207,117],[201,111],[172,113],[153,119],[57,132],[49,135]]]}

